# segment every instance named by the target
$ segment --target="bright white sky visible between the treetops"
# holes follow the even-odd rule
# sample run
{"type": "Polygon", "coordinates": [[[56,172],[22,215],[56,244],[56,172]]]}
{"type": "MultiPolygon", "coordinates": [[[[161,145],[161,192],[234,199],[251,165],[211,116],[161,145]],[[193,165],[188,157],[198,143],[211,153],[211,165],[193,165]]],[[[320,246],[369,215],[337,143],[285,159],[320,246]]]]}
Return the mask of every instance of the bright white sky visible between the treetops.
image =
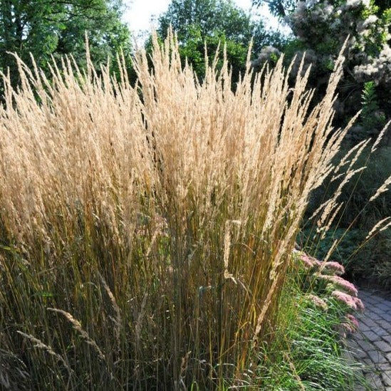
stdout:
{"type": "MultiPolygon", "coordinates": [[[[146,31],[150,31],[153,21],[157,19],[157,16],[162,12],[167,11],[170,0],[125,0],[124,3],[127,7],[123,20],[128,24],[130,31],[137,41],[142,43],[143,37],[147,36],[146,31]]],[[[260,7],[258,9],[251,8],[251,0],[234,0],[236,5],[240,6],[245,11],[251,12],[256,18],[257,14],[261,14],[262,20],[266,27],[276,28],[278,21],[271,16],[267,6],[260,7]]]]}

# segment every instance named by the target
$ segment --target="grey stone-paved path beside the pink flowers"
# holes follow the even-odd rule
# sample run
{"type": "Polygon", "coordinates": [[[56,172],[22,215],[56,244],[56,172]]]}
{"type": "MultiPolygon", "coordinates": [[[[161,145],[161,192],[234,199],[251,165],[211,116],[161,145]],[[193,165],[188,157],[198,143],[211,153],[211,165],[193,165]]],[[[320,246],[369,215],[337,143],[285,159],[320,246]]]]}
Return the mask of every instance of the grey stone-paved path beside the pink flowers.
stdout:
{"type": "Polygon", "coordinates": [[[370,387],[391,391],[391,298],[369,289],[360,289],[359,297],[365,311],[357,317],[360,331],[350,336],[348,345],[355,359],[365,363],[370,387]]]}

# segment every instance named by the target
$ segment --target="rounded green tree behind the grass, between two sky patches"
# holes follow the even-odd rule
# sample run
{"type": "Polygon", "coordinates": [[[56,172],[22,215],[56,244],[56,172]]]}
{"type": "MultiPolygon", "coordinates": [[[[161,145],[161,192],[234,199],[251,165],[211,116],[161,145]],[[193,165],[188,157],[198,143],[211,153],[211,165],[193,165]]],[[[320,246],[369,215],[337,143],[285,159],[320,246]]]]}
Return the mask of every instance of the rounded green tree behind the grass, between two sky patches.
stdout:
{"type": "Polygon", "coordinates": [[[205,42],[211,54],[219,42],[226,45],[234,80],[246,66],[251,38],[254,39],[253,53],[270,43],[278,47],[283,44],[280,34],[266,31],[260,21],[251,20],[249,14],[231,0],[173,0],[159,18],[158,33],[162,38],[170,25],[177,32],[181,56],[188,58],[200,78],[204,75],[205,42]]]}

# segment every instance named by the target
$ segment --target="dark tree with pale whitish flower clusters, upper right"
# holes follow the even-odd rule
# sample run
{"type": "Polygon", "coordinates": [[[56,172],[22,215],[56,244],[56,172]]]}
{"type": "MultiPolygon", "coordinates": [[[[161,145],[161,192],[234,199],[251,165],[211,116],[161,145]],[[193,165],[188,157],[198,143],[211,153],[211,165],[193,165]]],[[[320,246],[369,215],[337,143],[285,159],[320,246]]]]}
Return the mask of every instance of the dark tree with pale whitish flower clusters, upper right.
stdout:
{"type": "MultiPolygon", "coordinates": [[[[335,105],[338,125],[343,125],[360,108],[366,83],[372,85],[373,96],[378,98],[376,110],[362,114],[365,128],[375,133],[391,112],[388,91],[391,88],[391,1],[378,0],[254,0],[254,4],[267,3],[271,10],[282,6],[279,16],[291,26],[295,39],[284,48],[290,61],[305,56],[305,66],[312,66],[311,83],[320,92],[333,71],[346,38],[344,77],[339,87],[339,100],[335,105]],[[295,6],[289,8],[295,3],[295,6]],[[273,8],[274,7],[274,8],[273,8]],[[306,54],[304,54],[306,53],[306,54]],[[371,119],[370,121],[368,120],[371,119]],[[377,118],[377,120],[373,120],[377,118]]],[[[269,50],[268,53],[273,53],[269,50]]],[[[266,53],[266,54],[268,54],[266,53]]],[[[259,56],[257,66],[267,60],[259,56]]],[[[293,67],[297,71],[298,66],[293,67]]],[[[294,73],[294,72],[293,72],[294,73]]],[[[372,107],[372,106],[371,106],[372,107]]],[[[361,137],[361,136],[360,136],[361,137]]],[[[360,138],[358,137],[358,138],[360,138]]],[[[365,135],[364,135],[365,137],[365,135]]],[[[358,139],[355,138],[355,142],[358,139]]]]}

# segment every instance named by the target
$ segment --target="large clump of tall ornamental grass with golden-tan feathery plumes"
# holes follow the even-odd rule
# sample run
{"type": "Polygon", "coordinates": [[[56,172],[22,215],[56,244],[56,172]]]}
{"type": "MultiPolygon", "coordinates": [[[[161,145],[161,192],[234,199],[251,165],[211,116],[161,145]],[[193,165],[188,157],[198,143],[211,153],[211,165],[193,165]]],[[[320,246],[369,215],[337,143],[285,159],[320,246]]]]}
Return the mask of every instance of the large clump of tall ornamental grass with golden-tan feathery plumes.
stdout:
{"type": "Polygon", "coordinates": [[[292,87],[282,60],[233,92],[226,61],[199,83],[172,35],[153,47],[135,86],[72,59],[50,78],[18,59],[16,90],[4,75],[2,387],[262,386],[308,194],[347,131],[342,61],[310,110],[309,71],[292,87]]]}

